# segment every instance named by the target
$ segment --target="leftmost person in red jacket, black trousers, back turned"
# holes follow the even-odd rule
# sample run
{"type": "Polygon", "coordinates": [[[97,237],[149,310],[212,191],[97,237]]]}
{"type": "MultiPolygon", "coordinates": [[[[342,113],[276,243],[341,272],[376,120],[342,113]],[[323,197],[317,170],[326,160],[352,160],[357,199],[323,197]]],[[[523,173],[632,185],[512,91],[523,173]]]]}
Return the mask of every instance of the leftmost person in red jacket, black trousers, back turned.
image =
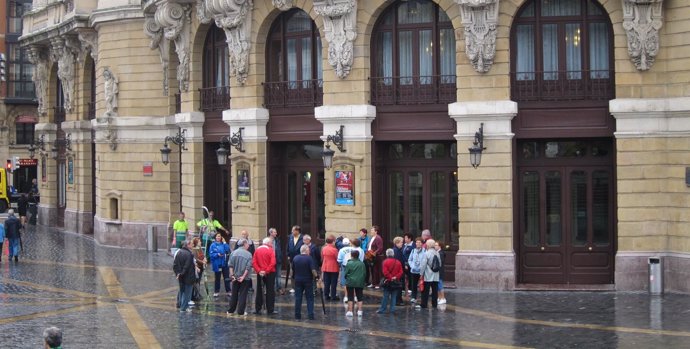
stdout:
{"type": "Polygon", "coordinates": [[[275,305],[275,272],[276,254],[273,251],[273,244],[270,237],[264,238],[261,246],[254,252],[252,267],[256,272],[256,301],[254,314],[261,314],[261,307],[264,302],[264,288],[266,291],[266,314],[273,315],[275,305]]]}

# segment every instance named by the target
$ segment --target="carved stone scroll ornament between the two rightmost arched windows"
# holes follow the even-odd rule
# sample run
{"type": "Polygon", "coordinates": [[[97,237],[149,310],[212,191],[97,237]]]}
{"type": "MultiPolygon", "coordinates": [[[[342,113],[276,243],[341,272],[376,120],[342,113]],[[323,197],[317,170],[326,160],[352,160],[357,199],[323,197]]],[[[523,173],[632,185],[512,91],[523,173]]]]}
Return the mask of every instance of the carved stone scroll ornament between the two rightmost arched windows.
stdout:
{"type": "Polygon", "coordinates": [[[465,27],[465,53],[478,73],[488,72],[494,64],[499,1],[455,0],[465,27]]]}

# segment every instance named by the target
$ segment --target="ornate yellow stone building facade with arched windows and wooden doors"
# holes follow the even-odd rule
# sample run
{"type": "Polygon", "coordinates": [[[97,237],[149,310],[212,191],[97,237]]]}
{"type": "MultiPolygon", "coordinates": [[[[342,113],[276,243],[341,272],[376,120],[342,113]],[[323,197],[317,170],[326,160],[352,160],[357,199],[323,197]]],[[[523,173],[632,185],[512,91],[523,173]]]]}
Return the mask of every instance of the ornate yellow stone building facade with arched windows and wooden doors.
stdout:
{"type": "Polygon", "coordinates": [[[41,223],[128,248],[202,206],[255,239],[429,228],[459,287],[644,290],[660,256],[690,292],[689,10],[34,1],[41,223]]]}

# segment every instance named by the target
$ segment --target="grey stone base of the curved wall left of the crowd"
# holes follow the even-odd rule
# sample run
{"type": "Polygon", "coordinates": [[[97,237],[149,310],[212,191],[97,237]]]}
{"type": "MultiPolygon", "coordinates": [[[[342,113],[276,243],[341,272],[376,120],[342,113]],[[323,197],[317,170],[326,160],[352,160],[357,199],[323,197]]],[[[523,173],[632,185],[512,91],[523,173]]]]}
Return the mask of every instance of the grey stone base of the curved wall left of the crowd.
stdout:
{"type": "Polygon", "coordinates": [[[165,251],[169,246],[167,222],[124,222],[94,217],[94,239],[105,246],[146,249],[146,231],[148,226],[155,229],[158,251],[165,251]]]}

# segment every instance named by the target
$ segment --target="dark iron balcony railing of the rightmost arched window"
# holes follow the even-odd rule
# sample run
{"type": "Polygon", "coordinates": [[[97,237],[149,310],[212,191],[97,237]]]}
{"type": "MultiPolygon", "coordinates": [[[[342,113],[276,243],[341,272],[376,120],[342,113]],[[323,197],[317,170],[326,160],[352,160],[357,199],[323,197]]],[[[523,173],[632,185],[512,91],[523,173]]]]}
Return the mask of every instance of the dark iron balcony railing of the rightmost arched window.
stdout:
{"type": "Polygon", "coordinates": [[[610,100],[614,97],[613,71],[536,71],[511,73],[513,100],[610,100]]]}

